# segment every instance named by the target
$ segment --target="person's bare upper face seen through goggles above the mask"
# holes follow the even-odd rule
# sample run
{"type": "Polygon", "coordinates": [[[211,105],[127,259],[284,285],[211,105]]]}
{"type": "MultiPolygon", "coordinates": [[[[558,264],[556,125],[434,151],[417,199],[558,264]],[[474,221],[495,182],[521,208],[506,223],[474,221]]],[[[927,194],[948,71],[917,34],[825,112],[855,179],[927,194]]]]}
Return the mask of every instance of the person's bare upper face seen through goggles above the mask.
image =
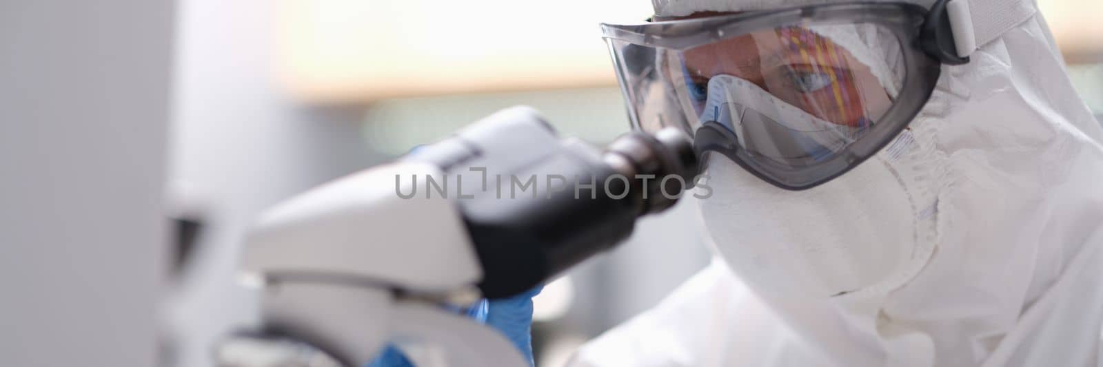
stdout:
{"type": "Polygon", "coordinates": [[[869,65],[807,28],[756,32],[693,47],[678,56],[685,98],[698,115],[705,112],[708,84],[716,75],[749,80],[816,118],[848,127],[871,125],[891,105],[869,65]]]}

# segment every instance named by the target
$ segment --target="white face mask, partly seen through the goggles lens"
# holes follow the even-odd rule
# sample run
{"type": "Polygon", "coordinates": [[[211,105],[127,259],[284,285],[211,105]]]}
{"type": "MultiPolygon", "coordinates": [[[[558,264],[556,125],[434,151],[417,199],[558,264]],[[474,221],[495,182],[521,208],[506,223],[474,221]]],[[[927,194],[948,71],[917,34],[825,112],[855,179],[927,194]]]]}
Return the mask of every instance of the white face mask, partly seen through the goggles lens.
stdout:
{"type": "MultiPolygon", "coordinates": [[[[714,76],[708,90],[702,117],[729,126],[737,136],[748,125],[774,123],[763,117],[824,147],[847,142],[853,129],[733,76],[714,76]]],[[[706,173],[713,194],[700,201],[700,211],[716,248],[760,292],[825,298],[899,285],[910,278],[904,269],[918,268],[906,266],[917,247],[917,205],[880,155],[799,192],[778,188],[722,155],[710,155],[706,173]]]]}

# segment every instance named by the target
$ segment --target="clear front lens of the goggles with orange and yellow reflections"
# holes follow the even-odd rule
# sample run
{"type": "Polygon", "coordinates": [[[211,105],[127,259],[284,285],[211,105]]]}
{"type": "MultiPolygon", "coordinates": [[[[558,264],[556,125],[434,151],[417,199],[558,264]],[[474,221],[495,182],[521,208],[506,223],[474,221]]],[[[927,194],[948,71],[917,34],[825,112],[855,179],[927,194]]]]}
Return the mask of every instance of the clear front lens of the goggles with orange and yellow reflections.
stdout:
{"type": "Polygon", "coordinates": [[[779,164],[833,156],[892,104],[872,66],[850,52],[870,46],[853,42],[857,36],[850,48],[832,39],[856,30],[781,26],[674,52],[670,80],[681,84],[674,89],[684,118],[719,122],[746,153],[779,164]]]}

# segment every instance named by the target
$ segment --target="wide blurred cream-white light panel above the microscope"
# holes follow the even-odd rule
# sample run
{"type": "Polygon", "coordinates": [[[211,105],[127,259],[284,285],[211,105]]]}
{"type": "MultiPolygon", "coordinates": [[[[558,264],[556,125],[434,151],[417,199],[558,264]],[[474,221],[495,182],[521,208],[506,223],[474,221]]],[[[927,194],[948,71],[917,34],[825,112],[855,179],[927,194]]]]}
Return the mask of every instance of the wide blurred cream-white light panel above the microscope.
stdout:
{"type": "Polygon", "coordinates": [[[279,82],[308,101],[615,85],[598,23],[647,0],[278,0],[279,82]]]}

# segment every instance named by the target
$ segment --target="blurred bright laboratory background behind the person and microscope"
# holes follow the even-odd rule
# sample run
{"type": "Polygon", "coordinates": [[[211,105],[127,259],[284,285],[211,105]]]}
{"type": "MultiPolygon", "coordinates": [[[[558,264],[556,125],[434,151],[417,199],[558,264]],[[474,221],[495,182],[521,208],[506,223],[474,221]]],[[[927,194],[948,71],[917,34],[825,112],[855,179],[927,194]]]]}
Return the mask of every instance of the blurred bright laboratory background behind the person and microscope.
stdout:
{"type": "MultiPolygon", "coordinates": [[[[1103,3],[1039,4],[1103,114],[1103,3]]],[[[55,341],[79,345],[51,356],[57,365],[210,366],[212,343],[256,317],[255,295],[234,279],[258,213],[508,106],[610,141],[628,120],[597,24],[650,14],[646,0],[0,1],[0,83],[20,86],[0,107],[63,106],[0,112],[2,202],[34,208],[6,222],[81,228],[0,233],[28,244],[0,250],[15,274],[0,280],[11,298],[0,328],[28,330],[0,336],[0,356],[41,365],[54,354],[41,345],[55,341]],[[45,166],[21,163],[51,147],[71,148],[45,166]],[[115,181],[90,179],[103,172],[115,181]],[[108,207],[129,217],[103,216],[108,207]]],[[[537,365],[561,365],[704,267],[696,215],[683,201],[548,285],[536,300],[537,365]]]]}

